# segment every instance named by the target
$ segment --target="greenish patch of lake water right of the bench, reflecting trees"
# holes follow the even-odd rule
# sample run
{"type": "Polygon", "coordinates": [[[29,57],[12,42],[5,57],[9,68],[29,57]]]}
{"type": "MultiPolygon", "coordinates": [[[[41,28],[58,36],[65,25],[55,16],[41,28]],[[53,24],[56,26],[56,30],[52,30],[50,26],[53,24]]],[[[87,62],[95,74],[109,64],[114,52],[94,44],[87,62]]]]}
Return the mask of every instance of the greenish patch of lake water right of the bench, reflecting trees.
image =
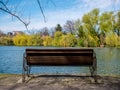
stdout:
{"type": "Polygon", "coordinates": [[[120,75],[120,49],[96,48],[99,74],[120,75]]]}

